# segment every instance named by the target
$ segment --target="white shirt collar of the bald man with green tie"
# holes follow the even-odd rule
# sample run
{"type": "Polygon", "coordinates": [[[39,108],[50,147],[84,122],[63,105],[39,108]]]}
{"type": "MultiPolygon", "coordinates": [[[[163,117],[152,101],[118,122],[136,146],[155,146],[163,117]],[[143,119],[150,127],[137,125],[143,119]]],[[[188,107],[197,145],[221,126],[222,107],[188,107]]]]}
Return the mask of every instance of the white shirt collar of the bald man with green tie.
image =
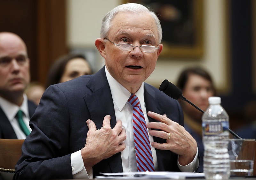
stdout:
{"type": "Polygon", "coordinates": [[[22,110],[25,116],[29,118],[28,97],[26,94],[23,94],[23,98],[21,106],[18,106],[0,96],[0,107],[3,109],[4,114],[10,121],[15,118],[19,109],[22,110]]]}

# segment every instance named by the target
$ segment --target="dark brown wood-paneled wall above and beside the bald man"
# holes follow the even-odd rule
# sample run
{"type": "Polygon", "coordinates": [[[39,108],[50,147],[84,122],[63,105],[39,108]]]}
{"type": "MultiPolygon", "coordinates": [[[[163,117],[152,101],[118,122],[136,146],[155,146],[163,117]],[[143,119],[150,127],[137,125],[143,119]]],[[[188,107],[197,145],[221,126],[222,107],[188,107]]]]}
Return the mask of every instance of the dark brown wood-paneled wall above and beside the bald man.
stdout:
{"type": "Polygon", "coordinates": [[[18,34],[27,44],[31,81],[44,84],[52,62],[66,54],[66,1],[1,0],[0,32],[18,34]]]}

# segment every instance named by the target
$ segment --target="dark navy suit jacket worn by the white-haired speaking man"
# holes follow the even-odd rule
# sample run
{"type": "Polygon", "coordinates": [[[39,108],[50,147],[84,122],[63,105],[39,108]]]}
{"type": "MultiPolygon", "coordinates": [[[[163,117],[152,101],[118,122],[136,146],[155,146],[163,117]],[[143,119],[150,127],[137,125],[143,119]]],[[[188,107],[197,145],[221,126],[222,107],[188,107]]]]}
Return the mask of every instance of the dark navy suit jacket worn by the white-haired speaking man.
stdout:
{"type": "MultiPolygon", "coordinates": [[[[147,83],[144,83],[144,98],[147,111],[166,114],[184,125],[178,101],[147,83]]],[[[30,120],[32,132],[22,146],[23,154],[16,165],[14,179],[73,178],[70,154],[82,149],[86,143],[86,120],[91,119],[100,129],[106,115],[111,116],[113,128],[116,117],[104,67],[94,75],[47,88],[30,120]]],[[[154,141],[166,142],[156,137],[154,141]]],[[[179,171],[177,154],[156,149],[156,155],[159,171],[179,171]]],[[[93,166],[93,177],[99,172],[123,172],[121,153],[93,166]]]]}

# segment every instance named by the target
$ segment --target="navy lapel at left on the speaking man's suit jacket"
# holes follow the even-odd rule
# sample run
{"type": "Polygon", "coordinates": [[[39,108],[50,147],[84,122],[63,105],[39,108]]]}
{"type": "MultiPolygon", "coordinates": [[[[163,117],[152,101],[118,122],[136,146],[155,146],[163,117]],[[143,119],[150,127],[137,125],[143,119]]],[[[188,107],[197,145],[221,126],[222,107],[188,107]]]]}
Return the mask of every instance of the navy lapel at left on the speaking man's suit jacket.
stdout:
{"type": "MultiPolygon", "coordinates": [[[[92,76],[86,86],[92,93],[84,95],[84,100],[97,129],[102,127],[106,115],[111,116],[110,126],[113,128],[116,125],[116,115],[105,66],[92,76]]],[[[108,164],[113,173],[123,172],[121,153],[108,158],[108,164]]]]}

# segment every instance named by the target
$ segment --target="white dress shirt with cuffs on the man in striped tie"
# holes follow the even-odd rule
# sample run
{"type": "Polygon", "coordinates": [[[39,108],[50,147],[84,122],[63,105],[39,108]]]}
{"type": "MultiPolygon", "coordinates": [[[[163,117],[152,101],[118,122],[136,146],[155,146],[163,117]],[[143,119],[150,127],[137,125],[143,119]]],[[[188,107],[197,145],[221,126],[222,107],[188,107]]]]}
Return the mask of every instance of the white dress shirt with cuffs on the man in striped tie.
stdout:
{"type": "MultiPolygon", "coordinates": [[[[136,163],[136,154],[135,154],[135,146],[134,146],[134,138],[133,138],[133,123],[132,123],[133,107],[128,102],[128,99],[131,96],[131,93],[126,88],[124,88],[124,86],[119,84],[116,81],[116,79],[114,79],[109,74],[106,67],[105,67],[105,71],[106,71],[108,84],[110,86],[110,90],[111,90],[111,94],[114,102],[116,120],[121,120],[123,124],[123,128],[126,130],[126,139],[124,141],[126,148],[124,149],[124,151],[121,152],[123,172],[136,172],[137,163],[136,163]]],[[[146,111],[146,105],[144,102],[143,85],[144,84],[142,83],[139,90],[135,94],[139,98],[140,107],[143,111],[143,114],[145,116],[145,121],[147,124],[148,116],[146,111]]],[[[149,140],[150,142],[153,142],[153,136],[149,135],[149,140]]],[[[152,146],[151,146],[151,150],[152,150],[155,170],[157,171],[158,165],[157,165],[156,150],[152,146]]],[[[197,154],[194,161],[192,161],[187,166],[181,166],[178,163],[180,170],[184,172],[194,172],[195,168],[197,167],[196,165],[198,164],[197,154]]],[[[90,173],[87,172],[88,173],[87,174],[84,168],[84,162],[82,159],[81,150],[71,154],[71,165],[72,165],[74,178],[92,178],[92,170],[90,170],[90,173]]]]}

